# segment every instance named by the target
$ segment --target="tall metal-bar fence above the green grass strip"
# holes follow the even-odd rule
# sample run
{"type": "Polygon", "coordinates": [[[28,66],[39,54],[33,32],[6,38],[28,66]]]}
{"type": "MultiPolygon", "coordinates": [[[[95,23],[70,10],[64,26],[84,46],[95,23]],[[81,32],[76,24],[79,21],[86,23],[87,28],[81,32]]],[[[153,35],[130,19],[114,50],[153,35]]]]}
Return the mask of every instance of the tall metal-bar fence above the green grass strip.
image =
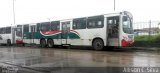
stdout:
{"type": "Polygon", "coordinates": [[[160,33],[160,21],[147,21],[133,23],[135,36],[157,35],[160,33]]]}

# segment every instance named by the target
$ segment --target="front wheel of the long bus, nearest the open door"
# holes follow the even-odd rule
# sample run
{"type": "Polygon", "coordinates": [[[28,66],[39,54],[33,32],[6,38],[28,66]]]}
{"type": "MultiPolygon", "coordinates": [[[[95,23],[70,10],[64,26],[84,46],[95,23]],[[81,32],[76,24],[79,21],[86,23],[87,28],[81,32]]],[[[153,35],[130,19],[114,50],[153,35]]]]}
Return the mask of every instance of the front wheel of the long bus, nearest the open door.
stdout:
{"type": "Polygon", "coordinates": [[[92,47],[95,50],[102,50],[104,48],[104,43],[103,43],[103,41],[101,39],[95,39],[93,41],[92,47]]]}

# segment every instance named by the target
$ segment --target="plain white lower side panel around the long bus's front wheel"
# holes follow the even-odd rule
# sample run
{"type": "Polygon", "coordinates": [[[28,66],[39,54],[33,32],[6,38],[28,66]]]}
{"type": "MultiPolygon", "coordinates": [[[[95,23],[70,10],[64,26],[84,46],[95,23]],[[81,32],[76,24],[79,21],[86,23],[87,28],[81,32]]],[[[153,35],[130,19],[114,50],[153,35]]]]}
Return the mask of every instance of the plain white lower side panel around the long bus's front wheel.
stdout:
{"type": "Polygon", "coordinates": [[[75,31],[79,34],[80,39],[69,39],[71,41],[71,45],[92,46],[92,41],[94,38],[101,38],[106,46],[105,26],[103,28],[82,29],[75,31]]]}

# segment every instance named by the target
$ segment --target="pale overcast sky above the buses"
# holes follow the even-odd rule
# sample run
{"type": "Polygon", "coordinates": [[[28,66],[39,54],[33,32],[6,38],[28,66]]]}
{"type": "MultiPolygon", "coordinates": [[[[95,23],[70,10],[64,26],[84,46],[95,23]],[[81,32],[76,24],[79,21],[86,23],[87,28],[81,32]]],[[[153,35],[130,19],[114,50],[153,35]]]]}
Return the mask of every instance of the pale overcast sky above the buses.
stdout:
{"type": "MultiPolygon", "coordinates": [[[[16,24],[106,14],[114,0],[15,0],[16,24]]],[[[0,27],[13,24],[13,0],[0,1],[0,27]]],[[[159,0],[116,0],[116,11],[129,11],[134,22],[160,21],[159,0]]]]}

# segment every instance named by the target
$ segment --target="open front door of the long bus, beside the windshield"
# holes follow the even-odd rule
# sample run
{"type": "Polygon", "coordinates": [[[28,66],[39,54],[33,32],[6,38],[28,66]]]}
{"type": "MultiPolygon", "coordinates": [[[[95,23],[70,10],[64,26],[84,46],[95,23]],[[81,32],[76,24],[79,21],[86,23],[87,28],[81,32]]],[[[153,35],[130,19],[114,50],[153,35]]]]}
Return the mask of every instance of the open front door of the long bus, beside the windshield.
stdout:
{"type": "Polygon", "coordinates": [[[107,45],[120,46],[119,44],[119,16],[107,18],[107,45]]]}

